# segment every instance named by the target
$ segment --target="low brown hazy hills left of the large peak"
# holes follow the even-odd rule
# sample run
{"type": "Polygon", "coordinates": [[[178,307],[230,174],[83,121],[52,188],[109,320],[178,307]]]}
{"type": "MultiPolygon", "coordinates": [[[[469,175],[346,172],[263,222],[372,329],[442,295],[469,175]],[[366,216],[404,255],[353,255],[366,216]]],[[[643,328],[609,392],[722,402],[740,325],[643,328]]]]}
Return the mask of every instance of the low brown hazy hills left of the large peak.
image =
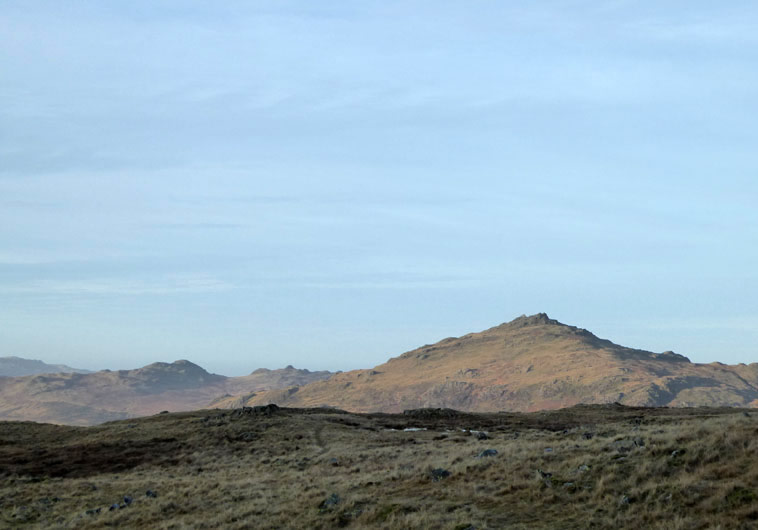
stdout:
{"type": "Polygon", "coordinates": [[[305,385],[330,375],[288,366],[225,377],[181,360],[135,370],[1,377],[0,420],[93,425],[164,410],[195,410],[219,397],[305,385]]]}

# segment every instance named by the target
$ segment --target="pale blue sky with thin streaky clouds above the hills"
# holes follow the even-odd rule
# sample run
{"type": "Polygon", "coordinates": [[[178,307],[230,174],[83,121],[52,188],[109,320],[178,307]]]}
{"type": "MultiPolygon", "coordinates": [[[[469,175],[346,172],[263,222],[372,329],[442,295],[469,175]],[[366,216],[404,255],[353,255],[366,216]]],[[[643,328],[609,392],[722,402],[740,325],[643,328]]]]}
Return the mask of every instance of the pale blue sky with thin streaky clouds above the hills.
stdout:
{"type": "Polygon", "coordinates": [[[758,361],[758,5],[0,3],[0,356],[758,361]]]}

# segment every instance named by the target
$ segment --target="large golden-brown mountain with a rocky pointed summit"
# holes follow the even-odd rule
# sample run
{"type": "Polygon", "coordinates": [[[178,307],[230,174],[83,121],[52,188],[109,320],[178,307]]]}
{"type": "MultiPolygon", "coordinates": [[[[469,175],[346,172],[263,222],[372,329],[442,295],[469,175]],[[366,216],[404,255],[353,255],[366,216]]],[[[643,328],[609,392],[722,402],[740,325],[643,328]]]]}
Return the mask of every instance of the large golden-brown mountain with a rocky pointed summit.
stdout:
{"type": "MultiPolygon", "coordinates": [[[[234,405],[536,411],[579,403],[758,406],[758,364],[696,364],[600,339],[540,313],[422,346],[368,370],[255,393],[234,405]]],[[[217,405],[231,405],[231,401],[217,405]]]]}

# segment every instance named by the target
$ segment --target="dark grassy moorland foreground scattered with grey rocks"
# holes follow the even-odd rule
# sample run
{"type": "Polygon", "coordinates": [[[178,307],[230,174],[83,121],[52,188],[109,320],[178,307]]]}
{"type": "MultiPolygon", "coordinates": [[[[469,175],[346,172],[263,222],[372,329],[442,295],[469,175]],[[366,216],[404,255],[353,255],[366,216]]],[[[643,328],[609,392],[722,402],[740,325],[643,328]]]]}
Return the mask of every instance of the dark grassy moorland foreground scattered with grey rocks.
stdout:
{"type": "Polygon", "coordinates": [[[753,528],[758,414],[275,406],[0,423],[0,526],[753,528]]]}

